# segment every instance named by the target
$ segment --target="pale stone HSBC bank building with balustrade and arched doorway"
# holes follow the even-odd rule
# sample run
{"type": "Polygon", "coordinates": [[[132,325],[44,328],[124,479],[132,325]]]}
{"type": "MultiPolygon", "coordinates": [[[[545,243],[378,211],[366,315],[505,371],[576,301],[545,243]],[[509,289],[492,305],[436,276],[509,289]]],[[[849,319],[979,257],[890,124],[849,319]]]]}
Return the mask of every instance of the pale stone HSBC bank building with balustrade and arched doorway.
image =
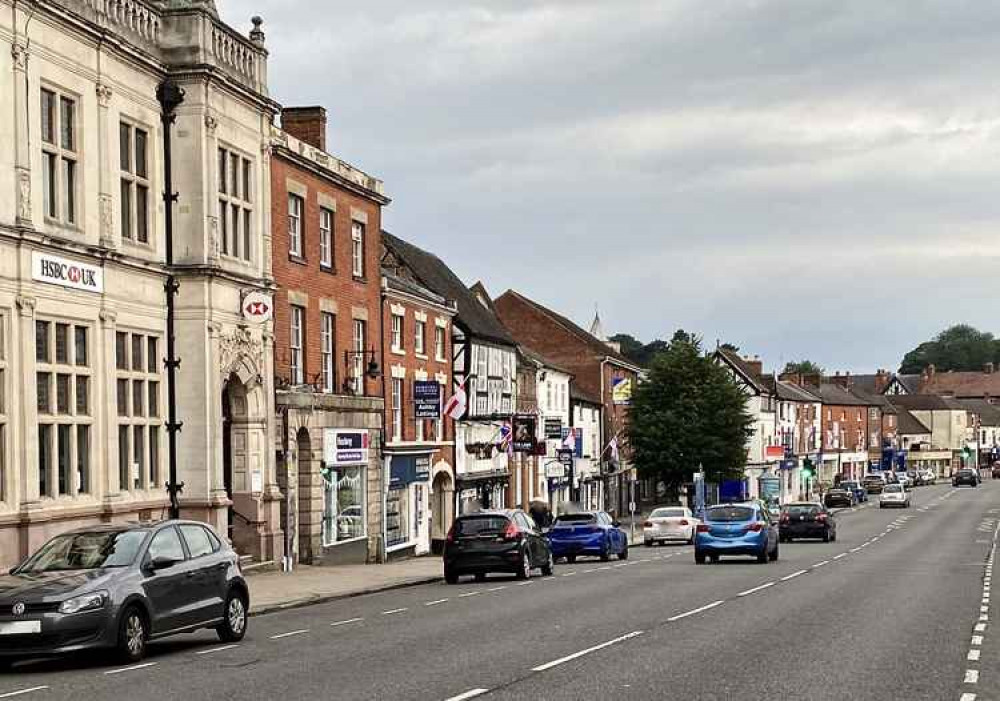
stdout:
{"type": "Polygon", "coordinates": [[[244,36],[211,0],[0,0],[0,45],[0,564],[71,527],[165,515],[168,274],[181,513],[275,557],[272,329],[242,312],[273,286],[259,22],[244,36]],[[167,78],[185,93],[172,268],[167,78]]]}

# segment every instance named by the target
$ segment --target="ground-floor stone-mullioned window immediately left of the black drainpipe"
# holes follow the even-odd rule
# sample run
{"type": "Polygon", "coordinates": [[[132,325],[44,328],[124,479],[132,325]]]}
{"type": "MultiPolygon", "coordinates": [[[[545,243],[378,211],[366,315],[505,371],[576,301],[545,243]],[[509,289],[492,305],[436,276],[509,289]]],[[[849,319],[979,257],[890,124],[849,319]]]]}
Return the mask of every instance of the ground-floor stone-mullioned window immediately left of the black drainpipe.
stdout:
{"type": "Polygon", "coordinates": [[[158,337],[150,334],[119,331],[115,337],[118,481],[123,491],[155,489],[162,481],[158,348],[158,337]]]}

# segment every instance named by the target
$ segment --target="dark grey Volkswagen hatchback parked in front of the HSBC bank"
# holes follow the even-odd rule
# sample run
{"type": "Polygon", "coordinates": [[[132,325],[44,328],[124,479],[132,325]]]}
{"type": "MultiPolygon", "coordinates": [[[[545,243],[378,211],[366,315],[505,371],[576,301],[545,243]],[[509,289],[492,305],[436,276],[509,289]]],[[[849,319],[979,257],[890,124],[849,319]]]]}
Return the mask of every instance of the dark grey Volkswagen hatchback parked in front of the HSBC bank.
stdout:
{"type": "Polygon", "coordinates": [[[113,649],[135,662],[155,638],[247,631],[239,558],[205,524],[160,521],[55,536],[0,577],[0,658],[113,649]]]}

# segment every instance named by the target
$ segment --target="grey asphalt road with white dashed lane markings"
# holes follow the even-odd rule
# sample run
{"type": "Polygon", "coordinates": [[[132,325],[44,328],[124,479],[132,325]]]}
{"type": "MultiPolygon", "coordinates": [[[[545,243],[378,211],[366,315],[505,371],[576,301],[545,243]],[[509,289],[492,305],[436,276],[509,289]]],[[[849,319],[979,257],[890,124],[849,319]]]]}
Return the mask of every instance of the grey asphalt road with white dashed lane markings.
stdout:
{"type": "MultiPolygon", "coordinates": [[[[1000,701],[989,600],[1000,483],[839,514],[836,543],[697,566],[687,546],[528,583],[429,584],[199,633],[142,666],[21,664],[0,699],[1000,701]]],[[[334,576],[334,571],[331,571],[334,576]]]]}

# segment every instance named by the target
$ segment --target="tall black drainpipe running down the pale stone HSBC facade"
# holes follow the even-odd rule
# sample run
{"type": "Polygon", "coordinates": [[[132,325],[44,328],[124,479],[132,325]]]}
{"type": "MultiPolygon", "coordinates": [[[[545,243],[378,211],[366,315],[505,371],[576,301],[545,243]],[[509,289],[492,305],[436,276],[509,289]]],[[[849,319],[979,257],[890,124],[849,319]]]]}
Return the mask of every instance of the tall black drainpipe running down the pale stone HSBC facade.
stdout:
{"type": "Polygon", "coordinates": [[[184,101],[184,91],[170,78],[165,79],[156,88],[156,99],[162,112],[160,122],[163,125],[163,205],[164,234],[166,237],[167,281],[164,291],[167,295],[167,358],[164,365],[167,368],[167,458],[169,478],[167,494],[170,497],[170,518],[180,517],[178,495],[184,490],[184,483],[177,481],[177,434],[182,423],[177,421],[177,368],[181,361],[176,355],[174,344],[174,298],[179,287],[174,276],[174,203],[177,193],[173,185],[173,157],[171,152],[170,132],[177,118],[175,110],[184,101]]]}

